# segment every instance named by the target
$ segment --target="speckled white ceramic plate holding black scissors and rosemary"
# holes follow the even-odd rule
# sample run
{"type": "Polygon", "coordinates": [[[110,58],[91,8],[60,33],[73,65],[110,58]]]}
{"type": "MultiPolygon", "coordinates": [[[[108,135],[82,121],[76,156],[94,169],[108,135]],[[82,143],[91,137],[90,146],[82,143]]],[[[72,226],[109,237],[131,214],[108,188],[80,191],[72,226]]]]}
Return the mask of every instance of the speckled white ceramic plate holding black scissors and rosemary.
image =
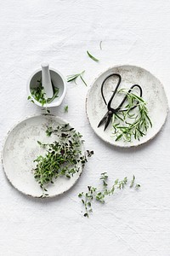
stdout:
{"type": "MultiPolygon", "coordinates": [[[[114,82],[112,79],[108,80],[106,83],[107,86],[105,86],[104,92],[105,98],[108,102],[111,98],[112,90],[114,90],[115,87],[113,88],[114,82]]],[[[115,108],[118,107],[120,102],[120,98],[117,97],[114,99],[115,108]]],[[[104,73],[101,73],[99,77],[95,79],[94,84],[92,84],[90,90],[88,91],[86,109],[90,125],[94,129],[94,132],[102,140],[104,140],[106,143],[110,143],[111,145],[128,148],[146,143],[156,136],[167,118],[168,105],[167,96],[163,86],[155,76],[144,70],[144,68],[124,65],[111,67],[104,73]],[[107,112],[107,107],[101,96],[101,84],[111,73],[119,73],[122,76],[122,83],[120,84],[119,89],[129,89],[133,84],[139,84],[142,87],[143,98],[144,101],[147,102],[147,108],[149,110],[149,116],[153,127],[149,128],[147,134],[144,137],[141,137],[140,141],[133,139],[131,143],[124,142],[123,140],[116,142],[115,138],[112,137],[113,133],[111,131],[111,124],[105,131],[104,125],[101,125],[98,128],[99,121],[107,112]]]]}

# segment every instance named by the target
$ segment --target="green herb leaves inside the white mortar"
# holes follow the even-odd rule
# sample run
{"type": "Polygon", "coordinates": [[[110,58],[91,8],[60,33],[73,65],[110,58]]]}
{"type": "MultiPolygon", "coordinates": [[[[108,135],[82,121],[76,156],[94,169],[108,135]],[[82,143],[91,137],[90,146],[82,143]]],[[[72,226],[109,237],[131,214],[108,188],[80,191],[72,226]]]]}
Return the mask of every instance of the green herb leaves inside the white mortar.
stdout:
{"type": "MultiPolygon", "coordinates": [[[[52,98],[48,98],[46,99],[45,97],[45,92],[43,90],[43,87],[42,87],[42,81],[41,80],[37,80],[37,86],[35,88],[32,88],[31,89],[31,95],[34,97],[34,99],[37,101],[37,102],[40,102],[42,104],[42,107],[47,104],[47,103],[51,103],[54,101],[54,99],[56,97],[58,97],[58,94],[59,94],[59,88],[57,87],[54,87],[54,84],[52,83],[53,85],[53,90],[54,90],[54,96],[52,98]]],[[[28,100],[31,99],[31,96],[28,96],[27,98],[28,100]]]]}

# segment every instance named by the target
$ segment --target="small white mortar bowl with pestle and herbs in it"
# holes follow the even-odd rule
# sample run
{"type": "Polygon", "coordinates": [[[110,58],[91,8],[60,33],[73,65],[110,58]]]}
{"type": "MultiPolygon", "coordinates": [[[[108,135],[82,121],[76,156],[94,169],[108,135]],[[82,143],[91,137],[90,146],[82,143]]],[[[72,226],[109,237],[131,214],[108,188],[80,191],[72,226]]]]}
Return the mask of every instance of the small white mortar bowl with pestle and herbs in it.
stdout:
{"type": "MultiPolygon", "coordinates": [[[[53,81],[54,87],[59,88],[59,94],[56,98],[54,98],[53,102],[47,103],[44,105],[44,107],[57,107],[61,104],[65,97],[66,93],[66,83],[65,79],[62,76],[59,71],[55,70],[54,68],[49,69],[51,79],[53,81]]],[[[42,69],[39,68],[37,69],[34,73],[31,74],[30,79],[28,79],[27,83],[27,93],[29,96],[31,96],[31,100],[35,102],[35,104],[39,107],[42,107],[42,104],[40,102],[37,102],[37,100],[31,95],[31,88],[36,88],[37,87],[37,80],[42,79],[42,69]]]]}

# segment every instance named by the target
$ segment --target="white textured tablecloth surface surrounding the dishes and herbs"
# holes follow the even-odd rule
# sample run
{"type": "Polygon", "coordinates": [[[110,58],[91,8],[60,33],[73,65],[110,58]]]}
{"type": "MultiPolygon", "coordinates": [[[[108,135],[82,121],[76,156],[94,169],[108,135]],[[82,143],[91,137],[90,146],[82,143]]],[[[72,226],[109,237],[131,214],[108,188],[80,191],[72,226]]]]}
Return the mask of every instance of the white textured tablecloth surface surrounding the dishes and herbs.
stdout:
{"type": "MultiPolygon", "coordinates": [[[[116,64],[144,67],[161,79],[170,100],[170,1],[1,0],[1,149],[15,122],[41,112],[26,100],[26,81],[42,61],[65,76],[85,69],[89,85],[116,64]]],[[[170,255],[169,119],[149,144],[113,148],[88,125],[87,91],[81,82],[68,84],[65,102],[53,111],[71,121],[95,152],[71,191],[53,200],[31,199],[8,183],[1,166],[0,255],[170,255]],[[98,185],[100,172],[111,179],[135,174],[141,189],[125,189],[84,218],[77,194],[98,185]]]]}

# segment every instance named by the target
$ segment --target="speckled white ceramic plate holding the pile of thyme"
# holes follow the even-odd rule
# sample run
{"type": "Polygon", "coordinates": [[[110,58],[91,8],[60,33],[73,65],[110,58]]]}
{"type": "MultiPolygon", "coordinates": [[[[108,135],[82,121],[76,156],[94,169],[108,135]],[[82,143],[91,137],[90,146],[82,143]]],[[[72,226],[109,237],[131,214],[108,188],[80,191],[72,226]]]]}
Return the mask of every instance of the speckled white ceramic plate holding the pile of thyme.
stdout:
{"type": "MultiPolygon", "coordinates": [[[[56,127],[59,124],[68,124],[68,122],[59,117],[40,115],[23,120],[9,131],[3,148],[3,168],[10,183],[20,192],[34,197],[42,195],[42,189],[31,171],[35,166],[33,160],[39,154],[45,153],[45,149],[40,148],[37,141],[53,143],[56,135],[47,137],[45,131],[48,126],[56,127]]],[[[50,197],[60,195],[71,189],[81,173],[80,165],[80,172],[75,173],[73,177],[59,177],[54,184],[48,185],[48,195],[50,197]]]]}

